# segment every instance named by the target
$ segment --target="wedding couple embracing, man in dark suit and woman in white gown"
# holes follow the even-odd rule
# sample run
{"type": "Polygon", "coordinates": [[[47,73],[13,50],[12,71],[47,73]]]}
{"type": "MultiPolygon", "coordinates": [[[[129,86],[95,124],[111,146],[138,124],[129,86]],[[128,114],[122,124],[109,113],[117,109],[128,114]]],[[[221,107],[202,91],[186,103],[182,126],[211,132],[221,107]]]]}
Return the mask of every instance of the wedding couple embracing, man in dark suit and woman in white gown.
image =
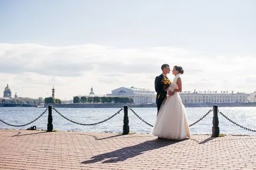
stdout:
{"type": "Polygon", "coordinates": [[[172,82],[168,79],[170,66],[161,66],[162,74],[156,76],[155,90],[157,104],[156,123],[152,129],[152,135],[165,139],[186,139],[191,137],[185,106],[182,104],[179,92],[182,91],[180,75],[183,74],[181,66],[174,66],[172,74],[175,78],[172,82]]]}

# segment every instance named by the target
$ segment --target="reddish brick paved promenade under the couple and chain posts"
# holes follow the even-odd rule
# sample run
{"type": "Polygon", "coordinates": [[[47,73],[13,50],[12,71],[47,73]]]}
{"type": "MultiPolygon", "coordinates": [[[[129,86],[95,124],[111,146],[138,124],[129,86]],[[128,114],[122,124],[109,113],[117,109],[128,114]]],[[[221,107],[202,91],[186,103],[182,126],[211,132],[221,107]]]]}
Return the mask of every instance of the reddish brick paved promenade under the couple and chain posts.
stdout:
{"type": "Polygon", "coordinates": [[[0,130],[0,169],[256,169],[256,136],[0,130]]]}

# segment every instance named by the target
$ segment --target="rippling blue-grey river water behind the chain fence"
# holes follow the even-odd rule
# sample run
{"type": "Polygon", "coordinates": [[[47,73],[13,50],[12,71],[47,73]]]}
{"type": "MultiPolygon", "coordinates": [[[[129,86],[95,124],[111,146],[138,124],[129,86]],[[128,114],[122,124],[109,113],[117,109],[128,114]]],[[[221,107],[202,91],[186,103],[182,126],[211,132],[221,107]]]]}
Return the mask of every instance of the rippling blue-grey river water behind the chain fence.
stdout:
{"type": "MultiPolygon", "coordinates": [[[[45,111],[46,108],[22,108],[22,107],[2,107],[0,108],[0,119],[11,125],[24,125],[45,111]]],[[[60,114],[68,119],[81,124],[93,124],[103,121],[114,115],[121,108],[56,108],[60,114]]],[[[151,125],[155,124],[156,108],[132,108],[137,115],[151,125]]],[[[200,119],[212,108],[186,108],[189,124],[200,119]]],[[[225,114],[229,119],[246,128],[256,129],[256,107],[219,107],[219,111],[225,114]]],[[[101,124],[86,126],[78,125],[64,119],[56,111],[52,110],[53,129],[57,131],[85,131],[85,132],[123,132],[123,111],[117,114],[109,121],[101,124]]],[[[152,127],[142,122],[130,109],[128,110],[130,132],[150,133],[152,127]]],[[[191,126],[192,134],[212,134],[212,116],[210,112],[202,121],[191,126]]],[[[232,124],[224,116],[218,114],[220,134],[233,135],[256,135],[232,124]]],[[[37,121],[26,126],[11,126],[0,121],[0,129],[27,129],[31,126],[37,126],[37,129],[47,129],[48,111],[37,121]]]]}

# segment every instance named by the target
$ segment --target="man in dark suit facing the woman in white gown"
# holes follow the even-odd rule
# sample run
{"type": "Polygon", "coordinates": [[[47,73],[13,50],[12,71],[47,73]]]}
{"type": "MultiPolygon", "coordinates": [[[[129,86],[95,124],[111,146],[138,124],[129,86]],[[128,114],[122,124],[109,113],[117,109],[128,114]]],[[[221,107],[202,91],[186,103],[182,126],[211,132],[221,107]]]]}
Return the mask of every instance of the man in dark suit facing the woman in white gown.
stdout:
{"type": "Polygon", "coordinates": [[[156,91],[156,106],[157,106],[157,115],[160,109],[160,106],[162,105],[163,100],[166,97],[167,92],[163,88],[162,79],[168,78],[167,74],[170,73],[170,66],[168,64],[163,64],[161,66],[162,74],[159,76],[156,76],[155,78],[155,91],[156,91]]]}

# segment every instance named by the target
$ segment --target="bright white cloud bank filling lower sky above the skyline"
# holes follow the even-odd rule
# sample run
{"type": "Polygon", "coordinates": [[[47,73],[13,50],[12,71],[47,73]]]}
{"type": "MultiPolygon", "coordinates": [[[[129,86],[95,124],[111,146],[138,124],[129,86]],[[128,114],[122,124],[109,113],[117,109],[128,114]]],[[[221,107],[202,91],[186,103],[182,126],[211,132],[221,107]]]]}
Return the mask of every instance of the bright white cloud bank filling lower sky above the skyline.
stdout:
{"type": "MultiPolygon", "coordinates": [[[[115,48],[95,44],[43,46],[0,44],[0,89],[6,84],[19,96],[51,95],[71,99],[89,94],[109,94],[120,86],[154,90],[155,76],[164,63],[180,65],[184,91],[253,92],[255,56],[211,56],[206,52],[169,46],[115,48]]],[[[173,75],[168,75],[173,78],[173,75]]]]}

